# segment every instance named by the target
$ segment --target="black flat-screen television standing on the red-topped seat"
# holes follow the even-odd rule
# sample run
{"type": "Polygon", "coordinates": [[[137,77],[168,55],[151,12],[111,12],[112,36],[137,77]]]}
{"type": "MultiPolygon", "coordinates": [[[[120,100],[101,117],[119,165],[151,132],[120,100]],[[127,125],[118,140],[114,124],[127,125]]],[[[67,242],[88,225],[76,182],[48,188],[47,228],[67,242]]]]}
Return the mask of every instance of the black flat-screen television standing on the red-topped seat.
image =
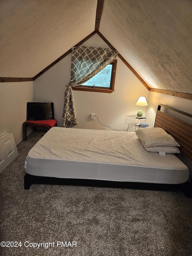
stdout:
{"type": "Polygon", "coordinates": [[[53,102],[28,102],[27,120],[54,119],[53,102]]]}

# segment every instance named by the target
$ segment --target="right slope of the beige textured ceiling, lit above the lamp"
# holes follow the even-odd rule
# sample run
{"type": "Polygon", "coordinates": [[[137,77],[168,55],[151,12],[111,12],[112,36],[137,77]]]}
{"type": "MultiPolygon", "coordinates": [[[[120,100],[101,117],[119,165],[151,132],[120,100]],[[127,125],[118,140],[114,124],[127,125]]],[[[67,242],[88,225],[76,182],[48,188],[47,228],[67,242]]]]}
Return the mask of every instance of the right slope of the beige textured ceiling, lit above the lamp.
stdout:
{"type": "Polygon", "coordinates": [[[192,94],[191,24],[191,0],[105,0],[99,31],[149,87],[192,94]]]}

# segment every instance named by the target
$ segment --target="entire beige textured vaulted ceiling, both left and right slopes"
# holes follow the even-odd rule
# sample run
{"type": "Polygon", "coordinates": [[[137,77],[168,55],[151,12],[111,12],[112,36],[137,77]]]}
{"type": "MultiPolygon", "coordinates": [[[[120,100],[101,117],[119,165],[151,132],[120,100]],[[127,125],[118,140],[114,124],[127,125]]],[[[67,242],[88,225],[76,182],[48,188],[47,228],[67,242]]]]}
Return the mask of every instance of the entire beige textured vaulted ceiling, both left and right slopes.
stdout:
{"type": "Polygon", "coordinates": [[[0,77],[35,77],[95,30],[150,88],[192,94],[191,0],[1,0],[0,77]]]}

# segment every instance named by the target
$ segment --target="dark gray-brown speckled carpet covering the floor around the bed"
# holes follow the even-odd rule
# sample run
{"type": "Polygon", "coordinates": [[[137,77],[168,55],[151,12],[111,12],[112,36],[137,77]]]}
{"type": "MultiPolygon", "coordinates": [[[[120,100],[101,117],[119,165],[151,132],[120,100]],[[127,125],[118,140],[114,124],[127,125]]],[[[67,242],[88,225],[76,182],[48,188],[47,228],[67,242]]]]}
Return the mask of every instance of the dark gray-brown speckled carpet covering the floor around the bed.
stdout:
{"type": "Polygon", "coordinates": [[[55,184],[24,190],[24,161],[41,134],[19,143],[19,156],[0,174],[0,240],[21,241],[0,247],[0,255],[191,256],[192,199],[180,191],[55,184]]]}

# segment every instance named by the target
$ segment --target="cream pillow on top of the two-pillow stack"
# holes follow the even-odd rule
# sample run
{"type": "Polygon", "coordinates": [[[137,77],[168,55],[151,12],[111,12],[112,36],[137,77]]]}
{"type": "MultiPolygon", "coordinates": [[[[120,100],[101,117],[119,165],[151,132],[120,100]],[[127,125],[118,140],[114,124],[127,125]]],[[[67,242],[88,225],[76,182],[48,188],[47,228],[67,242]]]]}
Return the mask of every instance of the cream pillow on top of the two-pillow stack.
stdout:
{"type": "Polygon", "coordinates": [[[176,140],[162,128],[140,128],[135,132],[137,137],[145,143],[147,148],[156,146],[180,146],[176,140]]]}

